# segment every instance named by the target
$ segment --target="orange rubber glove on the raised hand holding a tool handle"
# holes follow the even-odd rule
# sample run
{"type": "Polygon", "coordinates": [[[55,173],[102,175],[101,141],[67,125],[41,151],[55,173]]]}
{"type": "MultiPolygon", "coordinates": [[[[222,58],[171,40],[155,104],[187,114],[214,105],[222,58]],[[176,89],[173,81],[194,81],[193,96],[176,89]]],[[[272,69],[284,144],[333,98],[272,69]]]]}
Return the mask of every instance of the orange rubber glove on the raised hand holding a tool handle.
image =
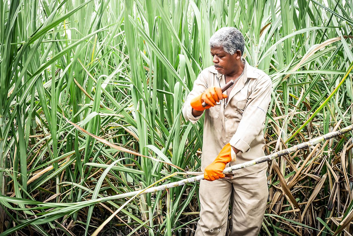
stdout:
{"type": "Polygon", "coordinates": [[[193,98],[190,102],[191,107],[194,108],[196,111],[203,111],[211,106],[216,106],[216,102],[219,102],[223,98],[227,98],[226,94],[222,94],[221,87],[210,87],[206,89],[201,95],[193,98]],[[202,103],[206,102],[208,106],[203,107],[202,103]]]}

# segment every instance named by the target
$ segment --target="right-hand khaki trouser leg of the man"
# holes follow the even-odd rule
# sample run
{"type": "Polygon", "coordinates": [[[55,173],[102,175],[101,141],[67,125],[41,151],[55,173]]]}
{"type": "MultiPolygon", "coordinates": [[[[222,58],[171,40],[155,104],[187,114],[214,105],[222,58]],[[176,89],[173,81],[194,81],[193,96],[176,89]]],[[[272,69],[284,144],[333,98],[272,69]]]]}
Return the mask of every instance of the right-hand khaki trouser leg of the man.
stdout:
{"type": "Polygon", "coordinates": [[[266,170],[233,179],[232,236],[257,236],[268,199],[266,170]]]}

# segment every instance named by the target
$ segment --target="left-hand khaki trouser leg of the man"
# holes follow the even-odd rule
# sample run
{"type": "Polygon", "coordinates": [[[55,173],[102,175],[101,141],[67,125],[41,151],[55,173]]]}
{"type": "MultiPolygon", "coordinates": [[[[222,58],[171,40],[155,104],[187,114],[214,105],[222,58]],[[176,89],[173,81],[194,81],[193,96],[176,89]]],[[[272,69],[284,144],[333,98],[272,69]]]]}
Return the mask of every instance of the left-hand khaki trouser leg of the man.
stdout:
{"type": "Polygon", "coordinates": [[[200,181],[200,219],[195,236],[226,234],[232,183],[227,179],[200,181]]]}

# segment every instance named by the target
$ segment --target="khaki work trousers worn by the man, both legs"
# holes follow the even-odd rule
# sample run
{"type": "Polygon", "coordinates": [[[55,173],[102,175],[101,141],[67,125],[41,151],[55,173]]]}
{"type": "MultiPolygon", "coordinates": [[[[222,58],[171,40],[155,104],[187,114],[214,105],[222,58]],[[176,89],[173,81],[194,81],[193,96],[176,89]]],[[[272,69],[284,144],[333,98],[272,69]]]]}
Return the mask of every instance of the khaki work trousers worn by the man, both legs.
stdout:
{"type": "Polygon", "coordinates": [[[201,180],[200,219],[195,236],[226,235],[229,201],[233,198],[231,236],[257,236],[268,199],[266,169],[241,177],[201,180]]]}

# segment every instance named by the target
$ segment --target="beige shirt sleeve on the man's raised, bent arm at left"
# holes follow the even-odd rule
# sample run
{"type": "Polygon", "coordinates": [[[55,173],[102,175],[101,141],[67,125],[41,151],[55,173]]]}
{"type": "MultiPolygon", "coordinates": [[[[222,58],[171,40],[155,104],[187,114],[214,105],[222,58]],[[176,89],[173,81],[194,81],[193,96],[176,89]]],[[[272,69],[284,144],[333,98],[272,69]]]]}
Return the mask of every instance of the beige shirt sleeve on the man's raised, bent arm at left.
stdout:
{"type": "Polygon", "coordinates": [[[192,107],[190,105],[190,102],[193,98],[202,94],[207,88],[208,88],[207,81],[206,81],[205,77],[203,76],[203,74],[200,73],[194,82],[192,90],[186,96],[186,100],[183,104],[183,116],[184,116],[185,120],[189,120],[191,123],[195,124],[200,119],[202,114],[200,116],[196,116],[196,117],[193,116],[192,107]]]}

